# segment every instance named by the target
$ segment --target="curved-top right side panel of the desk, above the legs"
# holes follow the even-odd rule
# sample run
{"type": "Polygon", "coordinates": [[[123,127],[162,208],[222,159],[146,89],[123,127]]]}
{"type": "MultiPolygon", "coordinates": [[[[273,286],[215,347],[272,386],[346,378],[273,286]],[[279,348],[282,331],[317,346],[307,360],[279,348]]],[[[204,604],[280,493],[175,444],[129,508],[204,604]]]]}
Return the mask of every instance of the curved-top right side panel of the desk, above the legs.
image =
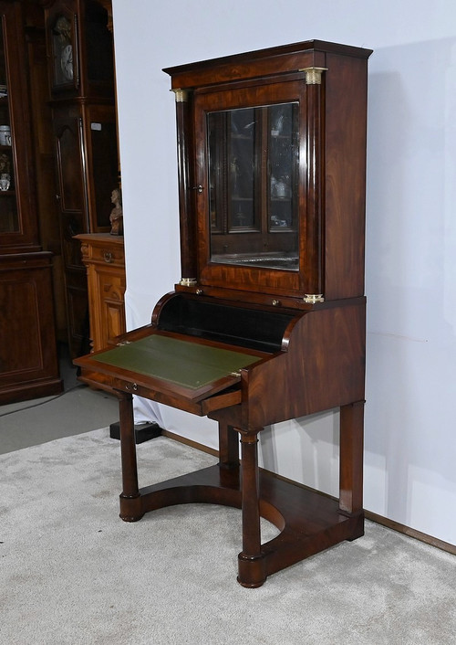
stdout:
{"type": "Polygon", "coordinates": [[[271,423],[364,400],[366,305],[308,312],[286,352],[244,370],[245,425],[271,423]]]}

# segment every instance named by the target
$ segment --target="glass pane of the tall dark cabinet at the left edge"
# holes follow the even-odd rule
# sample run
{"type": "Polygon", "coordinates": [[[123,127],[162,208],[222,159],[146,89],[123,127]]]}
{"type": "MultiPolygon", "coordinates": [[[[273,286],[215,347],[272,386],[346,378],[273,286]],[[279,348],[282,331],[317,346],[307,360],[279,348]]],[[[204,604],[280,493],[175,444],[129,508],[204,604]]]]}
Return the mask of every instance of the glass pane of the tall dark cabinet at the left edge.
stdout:
{"type": "Polygon", "coordinates": [[[3,32],[0,28],[0,233],[19,230],[3,32]]]}

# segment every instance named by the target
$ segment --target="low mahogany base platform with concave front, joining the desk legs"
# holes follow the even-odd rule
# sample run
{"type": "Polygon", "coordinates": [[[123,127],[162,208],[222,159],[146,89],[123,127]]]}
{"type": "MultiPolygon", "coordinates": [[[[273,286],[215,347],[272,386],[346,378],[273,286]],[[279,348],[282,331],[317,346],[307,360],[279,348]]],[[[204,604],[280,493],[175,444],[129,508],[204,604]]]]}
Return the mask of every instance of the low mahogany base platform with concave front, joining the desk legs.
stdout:
{"type": "MultiPolygon", "coordinates": [[[[281,531],[260,547],[256,556],[238,556],[238,582],[261,587],[267,576],[344,540],[364,534],[364,514],[340,511],[339,502],[269,471],[258,471],[259,509],[281,531]]],[[[242,508],[241,473],[223,464],[140,489],[137,496],[120,495],[120,517],[136,522],[159,508],[181,503],[214,503],[242,508]]],[[[244,526],[244,533],[255,527],[244,526]]]]}

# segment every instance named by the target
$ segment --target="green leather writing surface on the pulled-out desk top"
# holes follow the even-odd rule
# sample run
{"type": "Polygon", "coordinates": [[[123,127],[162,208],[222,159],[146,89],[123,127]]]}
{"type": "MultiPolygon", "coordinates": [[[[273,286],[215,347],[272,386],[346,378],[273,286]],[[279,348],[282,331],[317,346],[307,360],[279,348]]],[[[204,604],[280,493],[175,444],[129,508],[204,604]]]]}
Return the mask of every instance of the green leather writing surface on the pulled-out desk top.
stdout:
{"type": "Polygon", "coordinates": [[[96,354],[94,360],[197,389],[259,359],[244,352],[153,334],[96,354]]]}

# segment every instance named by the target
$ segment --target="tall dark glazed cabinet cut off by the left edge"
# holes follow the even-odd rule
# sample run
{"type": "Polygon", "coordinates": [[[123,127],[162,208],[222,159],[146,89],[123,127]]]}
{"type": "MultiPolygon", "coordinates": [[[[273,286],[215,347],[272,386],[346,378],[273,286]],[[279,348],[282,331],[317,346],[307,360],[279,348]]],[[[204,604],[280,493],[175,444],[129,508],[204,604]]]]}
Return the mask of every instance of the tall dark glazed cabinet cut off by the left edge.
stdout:
{"type": "Polygon", "coordinates": [[[52,254],[38,239],[25,10],[0,2],[0,402],[62,390],[52,254]]]}

